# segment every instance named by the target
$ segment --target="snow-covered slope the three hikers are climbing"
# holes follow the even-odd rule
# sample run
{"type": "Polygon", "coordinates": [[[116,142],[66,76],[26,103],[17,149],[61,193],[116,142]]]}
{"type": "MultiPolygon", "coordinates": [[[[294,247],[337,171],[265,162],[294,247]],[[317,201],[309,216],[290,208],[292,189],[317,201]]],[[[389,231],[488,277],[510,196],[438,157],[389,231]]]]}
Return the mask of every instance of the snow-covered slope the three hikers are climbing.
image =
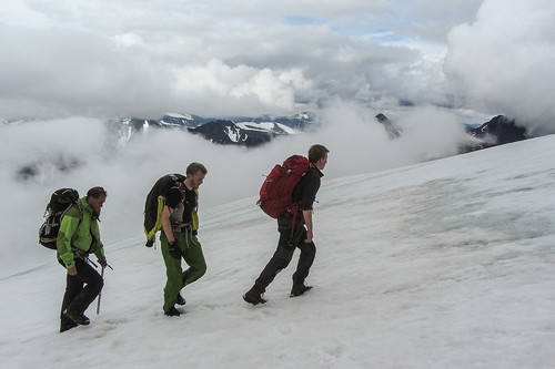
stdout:
{"type": "Polygon", "coordinates": [[[545,136],[324,181],[315,288],[289,298],[295,254],[263,306],[241,298],[278,239],[254,197],[201,214],[209,270],[179,318],[141,235],[107,246],[88,327],[58,332],[56,263],[1,279],[2,368],[553,368],[553,157],[545,136]]]}

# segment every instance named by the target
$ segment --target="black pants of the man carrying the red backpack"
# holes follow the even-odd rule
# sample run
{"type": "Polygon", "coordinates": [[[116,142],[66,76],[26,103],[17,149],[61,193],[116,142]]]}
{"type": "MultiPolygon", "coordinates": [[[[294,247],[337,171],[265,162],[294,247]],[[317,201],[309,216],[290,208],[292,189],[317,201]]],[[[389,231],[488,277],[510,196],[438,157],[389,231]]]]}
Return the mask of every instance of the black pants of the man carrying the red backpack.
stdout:
{"type": "Polygon", "coordinates": [[[306,229],[302,224],[295,225],[292,237],[291,222],[291,216],[278,219],[278,230],[280,232],[278,249],[254,283],[254,287],[261,294],[265,293],[266,287],[274,280],[278,273],[287,267],[296,248],[301,250],[301,255],[299,256],[296,270],[293,274],[293,286],[304,284],[304,279],[309,276],[310,268],[316,256],[316,246],[313,242],[304,242],[306,239],[306,229]]]}

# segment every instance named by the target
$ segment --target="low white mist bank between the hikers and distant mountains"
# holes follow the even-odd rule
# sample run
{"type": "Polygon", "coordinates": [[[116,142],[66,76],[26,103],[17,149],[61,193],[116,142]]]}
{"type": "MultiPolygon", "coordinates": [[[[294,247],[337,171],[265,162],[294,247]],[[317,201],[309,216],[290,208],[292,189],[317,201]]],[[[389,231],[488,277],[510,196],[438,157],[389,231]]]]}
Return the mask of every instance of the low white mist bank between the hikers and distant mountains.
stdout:
{"type": "Polygon", "coordinates": [[[209,170],[201,187],[201,208],[245,197],[253,197],[255,206],[264,175],[273,165],[293,154],[306,155],[315,143],[331,151],[324,177],[329,181],[450,155],[462,140],[453,127],[456,120],[442,110],[392,114],[406,135],[396,141],[389,140],[375,122],[376,113],[335,100],[317,112],[321,129],[276,139],[259,148],[214,145],[181,130],[151,130],[148,136],[135,135],[121,146],[110,125],[88,117],[2,124],[0,185],[9,194],[0,213],[2,264],[20,268],[51,260],[51,254],[33,253],[21,262],[21,254],[13,254],[12,247],[40,248],[37,232],[57,188],[73,187],[81,194],[97,185],[107,188],[102,234],[104,240],[113,242],[142,233],[144,199],[151,186],[164,174],[184,173],[190,162],[203,163],[209,170]]]}

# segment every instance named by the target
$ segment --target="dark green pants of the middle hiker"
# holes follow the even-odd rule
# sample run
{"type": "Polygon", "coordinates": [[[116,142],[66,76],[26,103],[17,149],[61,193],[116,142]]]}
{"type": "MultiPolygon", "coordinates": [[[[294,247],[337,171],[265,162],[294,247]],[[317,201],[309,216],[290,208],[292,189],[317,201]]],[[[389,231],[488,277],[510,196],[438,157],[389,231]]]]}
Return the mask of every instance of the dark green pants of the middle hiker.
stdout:
{"type": "Polygon", "coordinates": [[[162,256],[165,264],[168,280],[164,287],[164,311],[168,311],[178,300],[181,288],[195,281],[206,273],[206,262],[202,254],[202,247],[196,236],[191,230],[174,233],[175,243],[181,252],[181,257],[189,265],[189,269],[181,269],[181,258],[173,258],[168,252],[168,237],[162,232],[160,243],[162,244],[162,256]]]}

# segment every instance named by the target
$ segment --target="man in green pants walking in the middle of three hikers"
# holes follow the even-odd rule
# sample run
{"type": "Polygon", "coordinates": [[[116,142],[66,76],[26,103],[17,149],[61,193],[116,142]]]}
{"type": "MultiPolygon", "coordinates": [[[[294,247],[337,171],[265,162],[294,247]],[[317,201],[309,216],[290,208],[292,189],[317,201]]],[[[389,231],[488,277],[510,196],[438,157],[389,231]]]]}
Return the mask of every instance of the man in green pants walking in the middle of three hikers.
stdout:
{"type": "MultiPolygon", "coordinates": [[[[167,316],[179,316],[181,312],[175,308],[175,304],[185,305],[185,299],[181,295],[181,289],[195,281],[206,271],[206,263],[202,254],[202,247],[196,239],[199,228],[199,217],[196,214],[199,186],[204,181],[208,171],[200,163],[191,163],[186,167],[186,176],[168,175],[159,180],[155,188],[163,187],[163,183],[171,183],[172,186],[159,196],[163,196],[161,214],[162,233],[160,243],[162,256],[165,264],[168,280],[164,287],[163,310],[167,316]],[[173,178],[172,178],[173,176],[173,178]],[[182,181],[174,181],[180,178],[182,181]],[[189,269],[181,268],[181,258],[189,265],[189,269]]],[[[151,191],[152,194],[152,191],[151,191]]],[[[149,197],[152,197],[149,194],[149,197]]],[[[149,204],[147,199],[147,206],[149,204]]],[[[147,209],[145,209],[147,214],[147,209]]],[[[145,219],[145,224],[147,224],[145,219]]],[[[151,236],[153,237],[153,235],[151,236]]],[[[152,242],[152,238],[149,238],[152,242]]]]}

